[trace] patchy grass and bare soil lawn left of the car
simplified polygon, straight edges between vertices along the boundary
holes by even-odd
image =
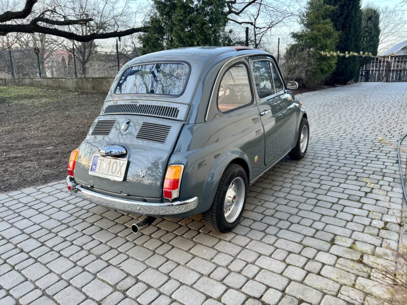
[[[0,86],[0,193],[65,179],[104,93]]]

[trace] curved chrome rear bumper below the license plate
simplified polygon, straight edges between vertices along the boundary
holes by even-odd
[[[67,176],[66,182],[68,185],[68,189],[70,188],[70,192],[78,197],[111,209],[117,209],[137,214],[159,216],[177,215],[191,211],[198,206],[197,197],[174,202],[143,202],[107,196],[84,189],[81,185],[76,185],[73,177],[71,176]]]

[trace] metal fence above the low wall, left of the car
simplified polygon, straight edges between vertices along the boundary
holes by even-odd
[[[120,67],[138,55],[136,51],[93,51],[88,58],[73,49],[36,52],[32,48],[8,48],[0,51],[0,78],[114,77]]]

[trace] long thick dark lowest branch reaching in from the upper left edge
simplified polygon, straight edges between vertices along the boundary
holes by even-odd
[[[132,27],[125,31],[114,31],[109,33],[92,33],[89,35],[78,35],[71,32],[63,31],[57,28],[44,27],[38,24],[0,24],[0,35],[7,33],[42,33],[75,40],[78,42],[89,42],[95,39],[106,39],[114,37],[123,37],[134,33],[145,33],[148,28],[145,26]]]

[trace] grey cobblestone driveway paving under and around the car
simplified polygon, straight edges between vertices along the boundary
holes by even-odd
[[[250,187],[228,234],[199,221],[135,216],[81,201],[65,184],[0,194],[0,304],[345,304],[386,297],[402,207],[394,143],[407,132],[405,83],[299,96],[311,138]],[[376,185],[370,188],[365,178]],[[372,271],[373,270],[373,271]]]

